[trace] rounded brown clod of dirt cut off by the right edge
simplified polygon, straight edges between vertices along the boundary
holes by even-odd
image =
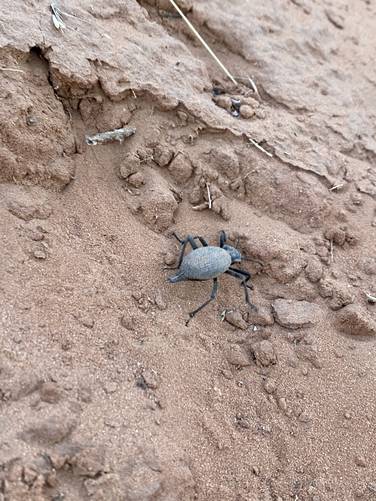
[[[376,321],[367,310],[356,304],[345,306],[337,313],[335,325],[341,332],[352,336],[376,335]]]

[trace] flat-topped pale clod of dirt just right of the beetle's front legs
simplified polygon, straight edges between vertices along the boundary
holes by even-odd
[[[287,329],[311,327],[321,316],[320,307],[307,301],[276,299],[272,304],[272,309],[276,322]]]

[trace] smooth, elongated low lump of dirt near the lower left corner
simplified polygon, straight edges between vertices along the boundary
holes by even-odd
[[[59,412],[56,415],[44,420],[41,419],[32,424],[21,433],[20,438],[26,442],[56,444],[67,438],[76,426],[76,417]]]

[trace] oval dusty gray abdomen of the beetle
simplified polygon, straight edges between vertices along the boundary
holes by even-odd
[[[187,254],[180,267],[186,280],[209,280],[231,266],[230,254],[220,247],[200,247]]]

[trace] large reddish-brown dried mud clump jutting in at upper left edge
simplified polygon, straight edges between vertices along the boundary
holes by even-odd
[[[72,127],[47,71],[29,62],[25,55],[23,72],[0,79],[0,93],[7,96],[0,111],[0,182],[60,189],[75,173]]]

